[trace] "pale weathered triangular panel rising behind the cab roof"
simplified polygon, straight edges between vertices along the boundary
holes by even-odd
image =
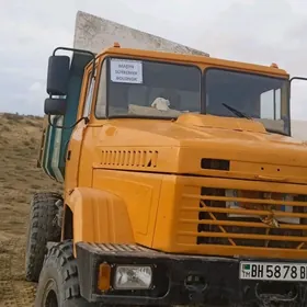
[[[123,24],[78,11],[75,25],[73,47],[100,53],[118,42],[123,48],[135,48],[178,54],[209,56],[166,38],[141,32]]]

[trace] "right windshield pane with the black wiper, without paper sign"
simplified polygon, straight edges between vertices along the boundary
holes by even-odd
[[[287,84],[286,79],[211,68],[205,72],[206,113],[251,117],[268,130],[288,134]]]

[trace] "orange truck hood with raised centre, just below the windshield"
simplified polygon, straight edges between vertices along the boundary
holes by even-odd
[[[268,133],[261,123],[246,118],[182,114],[171,123],[112,120],[101,130],[99,148],[118,151],[118,144],[135,155],[156,155],[159,172],[307,183],[307,144]],[[226,160],[229,168],[204,169],[204,159]]]

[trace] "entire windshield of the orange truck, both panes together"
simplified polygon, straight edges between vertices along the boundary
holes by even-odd
[[[123,58],[109,58],[107,65],[101,72],[98,118],[205,112],[260,121],[269,132],[289,134],[287,79],[208,68],[202,82],[201,69],[192,65]]]

